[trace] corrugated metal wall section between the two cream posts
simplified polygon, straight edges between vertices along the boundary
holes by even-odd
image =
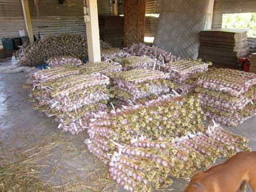
[[[58,1],[44,0],[40,1],[37,14],[33,0],[29,0],[34,35],[38,37],[40,33],[41,36],[47,37],[61,33],[85,34],[83,3],[80,0],[72,0],[71,5],[60,5]]]

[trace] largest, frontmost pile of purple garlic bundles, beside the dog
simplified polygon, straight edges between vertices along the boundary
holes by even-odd
[[[111,177],[133,191],[170,185],[172,177],[188,177],[218,157],[250,150],[248,140],[218,124],[205,129],[195,97],[159,97],[123,107],[91,123],[85,143],[110,166]]]

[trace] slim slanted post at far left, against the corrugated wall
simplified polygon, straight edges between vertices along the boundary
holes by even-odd
[[[29,42],[34,42],[33,29],[31,24],[31,16],[29,12],[28,0],[21,0],[25,24],[28,32]]]

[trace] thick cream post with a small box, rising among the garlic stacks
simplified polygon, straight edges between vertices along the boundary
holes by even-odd
[[[88,43],[89,63],[101,62],[101,45],[99,43],[99,22],[96,0],[86,0],[89,22],[85,22]]]

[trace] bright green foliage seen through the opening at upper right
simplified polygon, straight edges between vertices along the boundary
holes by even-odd
[[[246,29],[248,37],[256,37],[256,13],[223,14],[222,28]]]

